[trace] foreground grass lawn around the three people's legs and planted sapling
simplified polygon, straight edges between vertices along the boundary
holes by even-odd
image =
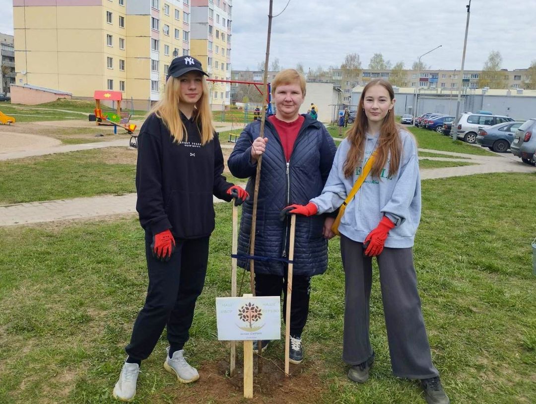
[[[422,182],[415,268],[434,364],[452,402],[536,402],[536,200],[518,197],[535,186],[536,174]],[[227,343],[216,341],[214,297],[230,289],[230,205],[216,211],[206,286],[185,347],[201,379],[180,385],[162,369],[164,336],[143,363],[134,402],[246,402],[224,368],[209,377],[228,360]],[[111,390],[147,287],[137,220],[3,228],[0,244],[0,402],[115,402]],[[290,402],[271,394],[284,396],[303,378],[311,384],[301,385],[293,402],[424,402],[414,381],[391,374],[377,278],[375,268],[376,363],[366,384],[351,383],[340,360],[344,273],[334,239],[329,270],[312,281],[306,359],[291,365],[299,376],[281,379],[271,392],[257,389],[247,402]],[[276,341],[266,356],[280,363],[283,351]]]

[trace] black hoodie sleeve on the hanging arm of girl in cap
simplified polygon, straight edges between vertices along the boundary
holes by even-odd
[[[158,134],[152,133],[157,130],[156,122],[150,121],[140,131],[136,164],[136,210],[142,227],[153,235],[172,227],[162,196],[162,144]]]

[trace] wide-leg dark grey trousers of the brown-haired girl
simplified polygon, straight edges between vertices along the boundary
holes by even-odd
[[[363,244],[341,235],[345,272],[343,360],[366,361],[373,352],[369,338],[372,258],[363,257]],[[438,375],[432,364],[411,248],[384,248],[377,256],[379,282],[391,366],[395,376],[425,379]]]

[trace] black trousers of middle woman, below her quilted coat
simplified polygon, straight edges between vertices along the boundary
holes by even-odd
[[[281,296],[283,292],[283,319],[287,308],[287,270],[284,276],[255,274],[256,296]],[[301,336],[309,314],[310,276],[292,276],[291,335]],[[286,321],[285,321],[286,323]]]

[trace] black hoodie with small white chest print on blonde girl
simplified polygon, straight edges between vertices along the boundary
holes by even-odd
[[[214,230],[212,195],[230,201],[233,184],[222,173],[224,156],[217,135],[201,144],[196,122],[181,113],[187,140],[176,143],[166,125],[150,115],[138,136],[136,210],[152,235],[171,229],[175,238],[209,236]]]

